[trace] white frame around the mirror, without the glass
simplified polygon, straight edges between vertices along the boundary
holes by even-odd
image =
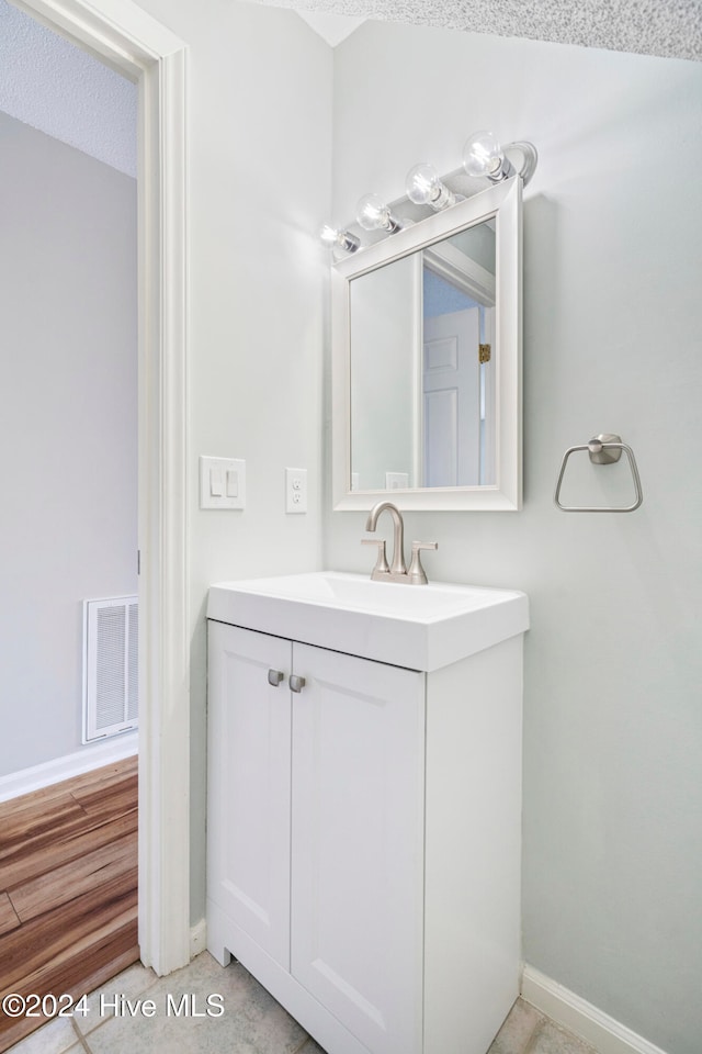
[[[393,491],[351,491],[350,282],[361,274],[496,217],[496,482]],[[497,183],[445,212],[340,260],[331,268],[333,507],[367,509],[392,500],[398,508],[516,512],[522,504],[522,180]]]

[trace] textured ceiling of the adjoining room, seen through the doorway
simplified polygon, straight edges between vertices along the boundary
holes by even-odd
[[[0,0],[0,110],[136,176],[136,86],[7,0]]]

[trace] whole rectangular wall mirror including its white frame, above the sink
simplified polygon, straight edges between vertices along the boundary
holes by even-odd
[[[521,179],[332,267],[335,508],[521,507]]]

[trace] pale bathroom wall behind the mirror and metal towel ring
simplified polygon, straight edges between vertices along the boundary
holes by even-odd
[[[440,542],[430,579],[531,597],[525,958],[669,1054],[702,1034],[701,126],[694,63],[372,23],[336,51],[336,221],[419,160],[454,169],[478,127],[540,152],[524,509],[406,522]],[[645,503],[563,514],[561,457],[599,431]],[[328,567],[370,571],[364,515],[328,514]]]

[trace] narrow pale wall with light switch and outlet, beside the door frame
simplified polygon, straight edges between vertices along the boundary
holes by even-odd
[[[331,49],[294,12],[140,0],[189,47],[192,921],[204,915],[207,588],[321,565]],[[244,458],[244,512],[201,512],[197,457]],[[285,467],[308,513],[285,513]]]

